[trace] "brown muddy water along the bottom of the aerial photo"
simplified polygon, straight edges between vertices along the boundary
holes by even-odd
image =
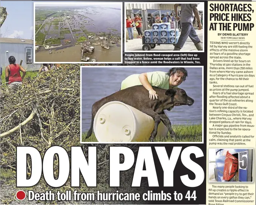
[[[91,58],[96,56],[97,62],[121,62],[121,46],[112,44],[109,49],[102,48],[102,46],[95,46]],[[39,51],[35,53],[35,62],[83,62],[81,61],[80,45],[71,46],[68,48],[52,49],[52,54],[49,50]]]

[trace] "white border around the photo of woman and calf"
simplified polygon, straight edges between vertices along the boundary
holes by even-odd
[[[82,68],[96,68],[95,66],[80,66],[80,143],[81,144],[203,144],[204,143],[204,66],[171,66],[171,67],[182,67],[182,68],[202,68],[202,142],[82,142]],[[125,66],[97,66],[99,68],[122,68]],[[128,66],[131,68],[141,68],[145,66]],[[169,66],[147,66],[149,68],[166,68]],[[205,67],[206,68],[206,67]]]

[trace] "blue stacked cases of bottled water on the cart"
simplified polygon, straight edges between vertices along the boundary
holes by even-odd
[[[175,42],[176,32],[176,42]],[[179,29],[171,28],[171,23],[153,23],[152,29],[144,32],[145,43],[177,43]]]

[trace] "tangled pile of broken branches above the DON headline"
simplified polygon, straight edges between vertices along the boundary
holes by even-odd
[[[80,65],[62,64],[17,92],[1,86],[1,165],[14,168],[16,146],[70,149],[80,141]]]

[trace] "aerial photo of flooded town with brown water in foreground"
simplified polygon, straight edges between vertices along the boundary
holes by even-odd
[[[35,3],[35,62],[121,62],[122,3]]]

